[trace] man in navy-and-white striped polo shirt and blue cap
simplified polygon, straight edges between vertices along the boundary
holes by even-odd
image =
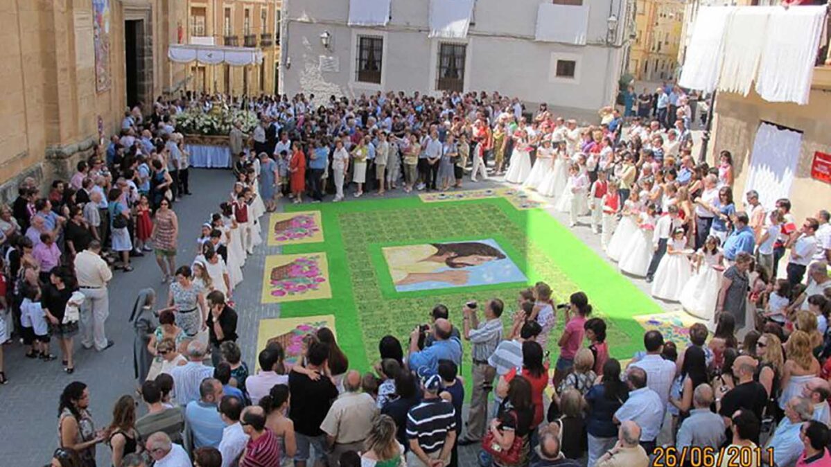
[[[456,440],[455,410],[439,397],[441,377],[430,375],[422,382],[424,399],[407,414],[409,467],[443,467],[450,462]]]

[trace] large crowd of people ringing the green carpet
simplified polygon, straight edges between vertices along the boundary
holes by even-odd
[[[694,162],[691,109],[681,90],[671,92],[681,93],[667,104],[674,121],[665,109],[667,120],[624,125],[604,109],[601,124],[589,126],[545,106],[529,114],[498,93],[379,93],[317,107],[302,95],[229,102],[260,123],[250,135],[241,125],[231,131],[237,181],[184,266],[173,205],[189,194],[189,158],[176,113],[221,101],[160,99],[150,116],[128,112],[120,135],[70,180],[56,180],[46,197],[27,180],[13,208],[0,209],[9,284],[0,337],[22,338],[29,357],[55,359],[56,337],[72,373],[79,325],[83,347],[110,348],[106,285],[112,270],[130,272],[131,258],[155,253],[170,284],[161,306],[143,290],[131,317],[145,415],[125,395],[96,430],[90,388],[72,382],[60,398],[52,465],[95,465],[100,443],[116,467],[438,467],[457,465],[458,446],[470,444],[480,445],[481,465],[499,466],[572,467],[584,458],[590,467],[646,466],[667,446],[690,445],[770,445],[774,456],[788,453],[777,465],[831,462],[829,214],[796,229],[789,200],[768,213],[755,192],[745,194],[746,212],[736,209],[730,153],[717,167]],[[281,196],[340,201],[352,184],[356,197],[460,188],[469,169],[472,180],[504,174],[552,198],[572,227],[588,218],[623,273],[646,277],[653,295],[680,301],[709,326],[691,327],[685,348],[647,332],[645,351],[622,365],[583,292],[558,307],[552,288],[537,283],[519,292],[509,319],[495,298],[466,303],[461,323],[436,306],[434,321],[405,345],[382,338],[369,373],[349,366],[327,328],[304,340],[293,365],[274,341],[258,354],[260,371],[249,371],[234,287],[262,242],[259,217]],[[788,250],[787,277],[777,278]],[[552,335],[556,361],[546,351]],[[468,420],[463,365],[472,375]],[[751,465],[770,463],[753,452]]]

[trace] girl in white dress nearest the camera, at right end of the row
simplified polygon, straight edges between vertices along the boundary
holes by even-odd
[[[724,269],[719,239],[712,235],[707,237],[704,246],[696,252],[693,260],[695,274],[681,288],[678,301],[686,312],[711,322]]]

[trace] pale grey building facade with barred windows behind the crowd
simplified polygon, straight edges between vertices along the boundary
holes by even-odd
[[[376,0],[284,0],[280,92],[499,91],[529,110],[546,102],[589,120],[612,105],[628,60],[632,0],[554,0],[583,8],[585,24],[568,41],[538,40],[540,5],[552,4],[540,0],[475,0],[464,37],[430,37],[431,2],[452,1],[391,0],[386,25],[357,27],[349,26],[350,3]],[[574,17],[557,12],[544,30],[575,29]]]

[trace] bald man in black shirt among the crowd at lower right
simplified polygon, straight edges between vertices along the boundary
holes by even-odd
[[[715,406],[719,415],[724,419],[725,425],[730,426],[730,420],[737,410],[750,410],[756,415],[756,420],[762,420],[762,412],[768,403],[768,391],[759,381],[754,381],[753,374],[756,370],[756,361],[751,356],[739,356],[733,361],[733,376],[738,380],[736,386],[727,391],[724,397],[715,398]],[[727,439],[733,438],[730,429],[726,433]],[[755,440],[759,444],[758,434]]]

